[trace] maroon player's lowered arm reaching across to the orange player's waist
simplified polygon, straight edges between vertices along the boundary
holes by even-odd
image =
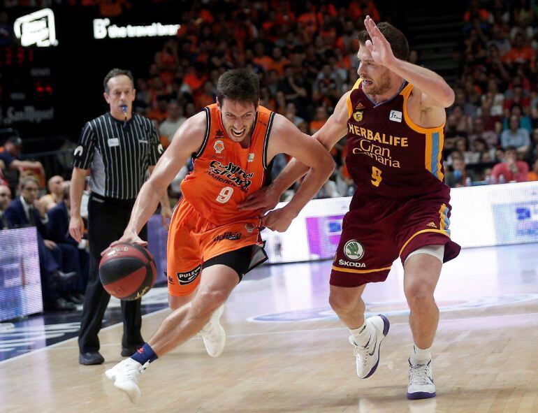
[[[345,93],[338,101],[333,115],[330,115],[327,122],[314,133],[314,138],[318,140],[327,151],[330,151],[333,146],[347,133],[347,119],[349,119],[348,101],[349,94]],[[299,131],[297,131],[298,133]],[[287,152],[284,152],[287,153]],[[292,155],[293,156],[293,155]],[[266,208],[270,210],[275,208],[280,196],[291,187],[293,182],[296,182],[300,177],[308,172],[308,166],[300,159],[293,157],[286,165],[284,170],[275,178],[275,181],[269,187],[261,189],[256,194],[249,196],[247,201],[241,205],[241,209],[256,210]],[[315,194],[315,192],[314,192]],[[312,196],[314,196],[312,194]]]

